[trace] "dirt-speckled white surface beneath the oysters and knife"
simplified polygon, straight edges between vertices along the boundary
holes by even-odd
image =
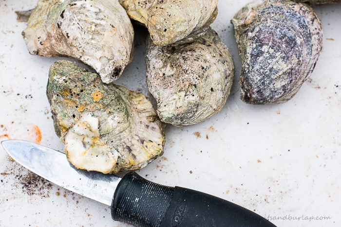
[[[7,134],[11,139],[35,141],[37,125],[40,143],[61,150],[45,95],[48,69],[57,58],[28,53],[21,37],[26,23],[17,22],[14,11],[31,9],[36,0],[22,2],[0,1],[1,140]],[[212,25],[236,66],[224,109],[197,125],[168,125],[164,156],[137,173],[156,183],[232,201],[278,227],[341,226],[341,4],[315,8],[324,29],[323,51],[299,93],[285,104],[256,106],[239,99],[241,62],[230,24],[247,2],[220,0]],[[136,34],[133,63],[117,84],[150,96],[144,37]],[[108,206],[28,173],[2,147],[0,173],[1,227],[129,226],[114,222]]]

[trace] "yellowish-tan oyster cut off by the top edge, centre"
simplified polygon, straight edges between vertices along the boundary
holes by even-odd
[[[218,0],[119,1],[129,17],[147,26],[152,41],[158,46],[192,42],[205,34],[218,14]]]

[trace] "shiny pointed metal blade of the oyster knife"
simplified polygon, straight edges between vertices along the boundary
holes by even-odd
[[[72,192],[111,206],[120,177],[78,170],[64,153],[24,140],[1,142],[7,153],[30,171]]]

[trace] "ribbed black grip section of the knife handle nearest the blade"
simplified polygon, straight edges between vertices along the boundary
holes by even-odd
[[[130,172],[122,178],[114,193],[112,217],[115,221],[137,227],[159,226],[173,192],[172,187],[153,183]]]

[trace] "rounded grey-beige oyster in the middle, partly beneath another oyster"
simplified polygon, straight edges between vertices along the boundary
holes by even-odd
[[[227,101],[233,60],[212,30],[195,42],[159,47],[147,41],[147,85],[162,122],[195,124],[219,112]]]

